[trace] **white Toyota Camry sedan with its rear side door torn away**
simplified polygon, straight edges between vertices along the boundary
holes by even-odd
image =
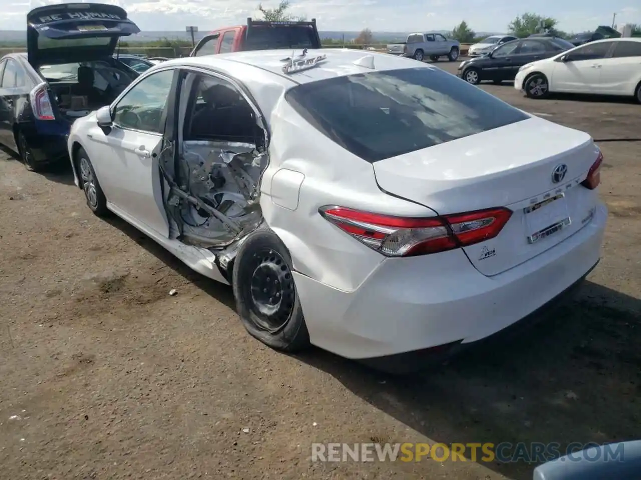
[[[588,134],[374,52],[166,61],[69,153],[90,209],[231,284],[251,335],[394,371],[529,323],[606,225]]]

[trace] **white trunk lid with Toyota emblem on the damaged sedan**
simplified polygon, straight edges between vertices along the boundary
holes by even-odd
[[[463,248],[481,273],[492,276],[553,247],[592,219],[597,195],[580,183],[598,156],[587,133],[533,117],[373,166],[381,189],[438,214],[511,209],[497,237]],[[564,175],[553,178],[563,165]],[[563,221],[547,236],[533,236]]]

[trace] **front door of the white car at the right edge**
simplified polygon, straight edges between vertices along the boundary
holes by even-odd
[[[553,92],[599,93],[601,68],[614,42],[582,45],[558,59],[552,72]]]

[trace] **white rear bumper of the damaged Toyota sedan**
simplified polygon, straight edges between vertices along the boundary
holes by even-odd
[[[353,292],[295,273],[313,344],[353,359],[388,357],[484,339],[527,318],[599,261],[607,210],[562,243],[485,276],[461,250],[386,259]]]

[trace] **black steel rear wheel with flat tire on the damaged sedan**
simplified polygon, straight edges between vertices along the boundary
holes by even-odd
[[[274,232],[259,230],[242,243],[231,284],[238,315],[250,335],[281,351],[309,346],[292,257]]]

